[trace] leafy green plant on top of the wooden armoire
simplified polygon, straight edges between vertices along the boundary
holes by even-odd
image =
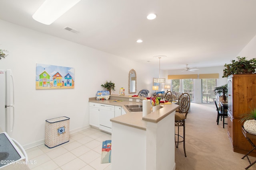
[[[256,69],[256,58],[246,60],[246,57],[236,57],[237,61],[231,60],[231,64],[225,64],[223,78],[232,74],[252,74]]]

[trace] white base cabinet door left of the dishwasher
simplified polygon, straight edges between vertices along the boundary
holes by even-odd
[[[89,124],[95,127],[99,127],[100,104],[89,102],[89,106]]]

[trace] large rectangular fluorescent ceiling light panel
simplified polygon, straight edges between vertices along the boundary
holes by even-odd
[[[32,16],[34,20],[50,25],[80,0],[45,0]]]

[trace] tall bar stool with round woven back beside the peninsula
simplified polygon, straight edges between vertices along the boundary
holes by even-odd
[[[176,148],[178,148],[179,143],[183,142],[184,154],[185,157],[187,157],[185,149],[185,120],[190,109],[190,95],[188,93],[182,93],[178,98],[177,104],[180,105],[180,107],[178,108],[178,111],[176,111],[175,113],[175,126],[178,127],[178,134],[175,133],[175,136],[177,137],[177,140],[175,137],[175,145]],[[183,126],[183,136],[180,135],[180,126]],[[180,138],[182,141],[180,141]]]

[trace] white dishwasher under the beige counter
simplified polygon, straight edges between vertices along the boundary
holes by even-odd
[[[112,133],[112,122],[110,119],[115,117],[115,106],[100,104],[99,128],[103,131]]]

